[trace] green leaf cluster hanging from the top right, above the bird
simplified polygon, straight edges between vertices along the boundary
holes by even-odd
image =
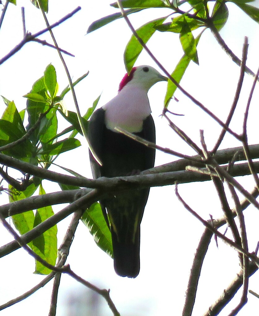
[[[242,9],[249,17],[256,22],[259,22],[259,9],[251,6],[247,3],[253,2],[254,0],[229,0],[235,3],[240,9]],[[183,48],[185,55],[179,60],[175,70],[172,72],[173,77],[179,83],[182,79],[186,68],[192,60],[198,64],[198,52],[197,52],[197,40],[195,40],[192,32],[202,27],[203,31],[207,28],[215,28],[220,31],[228,20],[228,8],[227,2],[218,0],[212,1],[214,6],[211,10],[211,5],[208,5],[207,1],[204,0],[181,0],[181,1],[169,1],[169,0],[122,0],[121,4],[125,10],[126,15],[139,12],[140,10],[157,8],[156,11],[159,15],[159,8],[168,9],[169,14],[165,18],[157,18],[154,21],[147,22],[146,24],[139,27],[136,32],[139,38],[144,42],[151,38],[156,30],[160,32],[172,32],[179,33],[180,44]],[[182,5],[185,5],[182,8]],[[186,7],[189,4],[189,8]],[[114,8],[119,8],[118,3],[114,2],[111,4]],[[163,10],[163,14],[164,14]],[[211,12],[210,12],[211,11]],[[108,15],[97,21],[94,21],[88,28],[87,33],[92,32],[118,18],[121,18],[121,12],[116,12],[112,15]],[[167,19],[168,18],[168,19]],[[169,20],[171,21],[165,21]],[[165,23],[164,23],[165,21]],[[202,31],[202,33],[203,33]],[[201,33],[201,34],[202,34]],[[197,37],[200,38],[201,34]],[[124,52],[124,63],[126,70],[129,72],[134,66],[137,58],[143,47],[139,43],[138,39],[132,35],[128,42]],[[167,94],[165,96],[165,106],[168,106],[168,102],[172,98],[172,93],[175,92],[176,86],[173,82],[168,80]]]

